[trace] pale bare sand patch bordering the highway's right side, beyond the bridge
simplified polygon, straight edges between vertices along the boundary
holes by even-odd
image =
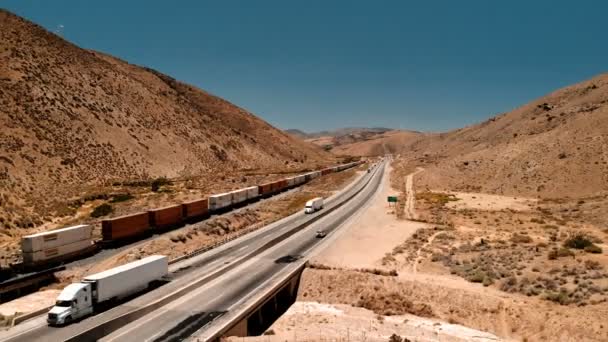
[[[385,168],[382,188],[372,204],[354,217],[348,223],[347,231],[313,257],[312,262],[333,267],[382,267],[381,259],[387,251],[425,226],[424,223],[395,217],[394,208],[387,202],[388,196],[399,193],[390,186],[391,170],[390,166]]]

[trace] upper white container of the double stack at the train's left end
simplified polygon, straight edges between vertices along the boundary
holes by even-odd
[[[21,238],[21,250],[33,253],[45,249],[55,248],[78,241],[91,241],[93,227],[82,224],[73,227],[51,230],[48,232],[27,235]]]

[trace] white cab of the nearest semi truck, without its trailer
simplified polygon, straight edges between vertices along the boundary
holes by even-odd
[[[61,291],[47,315],[51,325],[63,325],[93,313],[90,283],[74,283]]]

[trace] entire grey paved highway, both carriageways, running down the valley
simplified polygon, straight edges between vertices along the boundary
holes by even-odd
[[[320,226],[335,225],[336,217],[339,217],[340,213],[347,212],[349,208],[352,210],[357,203],[360,204],[366,195],[375,191],[381,174],[382,172],[365,174],[328,199],[325,209],[320,212],[313,215],[299,212],[197,257],[171,265],[173,281],[122,305],[61,328],[48,327],[45,317],[39,317],[0,333],[0,340],[67,340],[104,322],[118,321],[117,317],[149,307],[150,303],[198,282],[203,286],[126,325],[107,336],[107,339],[163,341],[173,340],[171,336],[187,336],[212,322],[223,312],[229,311],[230,303],[237,303],[245,298],[246,294],[254,293],[259,284],[288,265],[276,263],[276,259],[287,254],[305,255],[307,250],[317,243],[314,231]],[[327,214],[330,211],[331,213]],[[316,222],[310,224],[313,221]],[[292,237],[281,241],[283,237],[288,236]],[[267,251],[256,253],[264,249]],[[247,261],[243,261],[243,258]],[[184,330],[183,326],[189,328]],[[111,332],[112,329],[106,331],[108,334]]]

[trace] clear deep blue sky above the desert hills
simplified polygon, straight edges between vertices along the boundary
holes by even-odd
[[[441,131],[607,71],[608,1],[28,1],[0,7],[280,128]]]

